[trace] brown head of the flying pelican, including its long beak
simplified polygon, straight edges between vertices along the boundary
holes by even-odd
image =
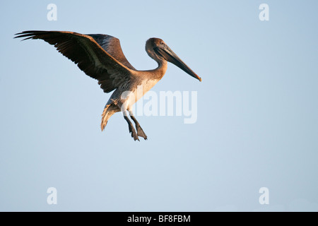
[[[170,47],[163,42],[163,40],[160,40],[160,38],[157,37],[151,37],[146,42],[146,52],[148,53],[149,57],[154,59],[155,61],[169,61],[172,64],[175,64],[175,66],[179,67],[179,69],[182,69],[183,71],[187,72],[190,76],[198,79],[201,82],[201,78],[192,71],[187,64],[184,64],[184,62],[179,59],[177,54],[175,54]]]

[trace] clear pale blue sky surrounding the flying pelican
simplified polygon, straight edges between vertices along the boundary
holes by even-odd
[[[57,5],[57,21],[47,5]],[[269,4],[269,21],[259,5]],[[317,1],[1,1],[0,210],[318,210]],[[198,118],[121,114],[100,131],[104,94],[23,30],[102,33],[136,69],[160,37],[202,82],[169,64],[153,91],[196,91]],[[57,205],[48,205],[49,187]],[[269,205],[259,189],[269,188]]]

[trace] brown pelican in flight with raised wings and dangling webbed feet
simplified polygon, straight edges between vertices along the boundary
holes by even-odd
[[[163,40],[155,37],[147,40],[146,52],[149,57],[158,63],[158,67],[153,70],[138,71],[127,61],[119,40],[110,35],[83,35],[68,31],[40,30],[28,30],[16,35],[16,37],[25,37],[23,40],[41,39],[53,44],[61,54],[77,64],[78,68],[84,71],[86,75],[97,79],[100,88],[105,93],[114,90],[102,112],[100,127],[102,130],[105,129],[108,119],[114,113],[122,112],[129,125],[129,133],[135,141],[139,141],[139,136],[146,140],[147,136],[132,114],[131,107],[163,78],[167,70],[167,61],[201,81],[201,78],[184,64]],[[142,95],[137,93],[140,87]],[[127,93],[126,91],[134,95],[123,97],[123,94]],[[136,130],[129,120],[127,112],[134,121]]]

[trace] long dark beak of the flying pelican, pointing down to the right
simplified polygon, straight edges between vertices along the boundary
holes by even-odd
[[[184,64],[184,61],[179,59],[177,54],[175,54],[167,45],[165,45],[165,47],[155,47],[155,52],[160,54],[166,61],[175,64],[175,66],[179,67],[179,69],[187,72],[190,76],[198,79],[200,82],[202,81],[202,79],[196,73],[194,73],[194,71],[192,71],[187,64]]]

